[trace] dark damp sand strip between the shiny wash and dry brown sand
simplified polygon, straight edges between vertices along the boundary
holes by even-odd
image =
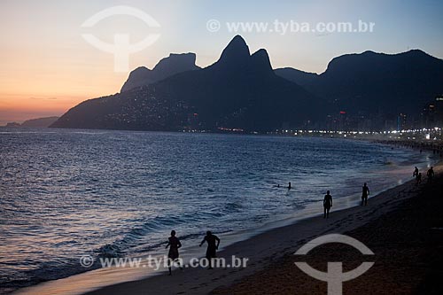
[[[440,173],[442,170],[441,164],[436,165],[436,173]],[[329,220],[323,220],[323,216],[319,214],[290,225],[269,229],[257,236],[229,245],[219,252],[219,257],[229,258],[231,255],[236,255],[237,257],[248,258],[247,268],[219,268],[213,270],[186,268],[183,272],[173,271],[173,276],[159,274],[159,276],[150,276],[138,281],[105,286],[96,291],[86,292],[86,294],[143,294],[147,290],[153,293],[191,292],[193,294],[206,294],[217,290],[217,288],[226,288],[226,286],[239,280],[241,282],[245,277],[254,277],[254,274],[271,267],[276,261],[280,261],[285,256],[297,251],[299,246],[314,237],[328,233],[345,233],[361,228],[370,221],[377,221],[386,213],[394,211],[397,206],[400,206],[408,198],[416,196],[418,191],[415,182],[409,181],[369,198],[369,205],[366,207],[354,206],[331,211]],[[44,283],[40,287],[44,287]],[[68,287],[66,286],[66,290],[69,289]],[[16,293],[28,293],[26,289],[20,289]],[[28,291],[31,290],[39,291],[35,287],[28,289]],[[40,291],[41,294],[57,293],[57,291],[51,291],[47,288]],[[221,290],[221,292],[223,291]]]

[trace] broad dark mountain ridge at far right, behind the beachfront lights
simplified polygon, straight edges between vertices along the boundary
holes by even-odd
[[[419,113],[443,93],[443,60],[422,50],[399,54],[365,51],[333,58],[323,74],[277,69],[276,74],[347,113]]]

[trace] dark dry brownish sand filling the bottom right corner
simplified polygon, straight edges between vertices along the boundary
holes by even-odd
[[[375,253],[372,268],[360,277],[343,283],[344,294],[441,294],[443,284],[443,174],[419,188],[404,191],[403,199],[390,213],[344,234],[354,237]],[[400,194],[400,192],[399,192]],[[400,198],[400,195],[398,196]],[[288,253],[253,276],[222,286],[211,294],[325,294],[327,283],[307,276],[294,262],[307,261],[327,271],[326,261],[342,261],[344,271],[357,268],[363,258],[349,246],[330,244],[303,258]],[[254,291],[251,291],[251,286]]]

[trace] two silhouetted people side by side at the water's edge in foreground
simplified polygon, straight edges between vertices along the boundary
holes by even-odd
[[[169,247],[169,252],[167,253],[167,268],[169,269],[169,276],[172,275],[172,263],[176,262],[178,264],[178,267],[183,270],[183,266],[180,265],[179,254],[178,249],[182,247],[182,243],[180,243],[180,240],[178,237],[175,236],[175,230],[171,231],[171,237],[167,239],[167,247]],[[207,243],[207,249],[206,249],[206,259],[209,261],[209,269],[213,268],[213,260],[216,258],[216,252],[220,245],[220,238],[213,235],[211,231],[206,231],[206,236],[203,238],[203,240],[200,243],[200,247]]]

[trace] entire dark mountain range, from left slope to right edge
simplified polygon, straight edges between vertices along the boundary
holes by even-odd
[[[370,128],[385,128],[399,113],[417,118],[442,93],[443,60],[422,50],[346,54],[323,74],[274,71],[266,50],[251,54],[237,35],[211,66],[195,66],[192,53],[171,54],[133,71],[119,94],[82,102],[51,127],[266,132],[329,126],[346,111],[354,126],[368,118]]]

